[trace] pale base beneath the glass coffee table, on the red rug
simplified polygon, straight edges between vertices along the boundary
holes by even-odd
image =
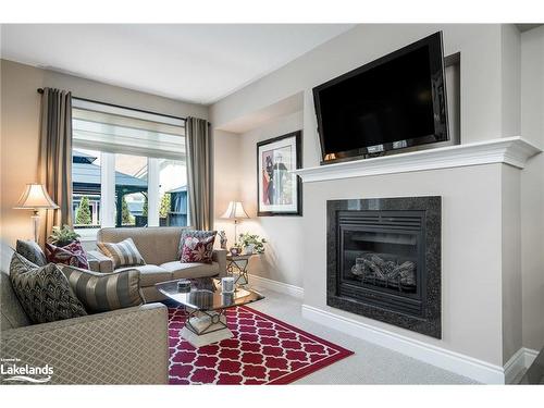
[[[180,335],[194,347],[232,338],[233,332],[226,325],[224,309],[218,311],[188,311],[185,326]]]

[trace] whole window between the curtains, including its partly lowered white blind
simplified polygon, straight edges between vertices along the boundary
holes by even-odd
[[[72,115],[76,228],[187,224],[183,120],[75,98]]]

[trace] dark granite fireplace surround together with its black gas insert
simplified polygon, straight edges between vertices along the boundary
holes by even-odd
[[[442,337],[442,198],[330,200],[326,304]]]

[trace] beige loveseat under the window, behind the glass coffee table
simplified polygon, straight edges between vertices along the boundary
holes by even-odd
[[[177,258],[180,238],[185,227],[157,226],[135,228],[101,228],[97,240],[119,243],[133,238],[136,248],[144,257],[146,264],[140,267],[119,268],[140,271],[140,287],[146,302],[165,299],[157,292],[154,284],[183,277],[223,276],[226,273],[226,250],[213,251],[213,262],[182,263]],[[89,251],[89,267],[99,272],[113,272],[113,262],[99,251]]]

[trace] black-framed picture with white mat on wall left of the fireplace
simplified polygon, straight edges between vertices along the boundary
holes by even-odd
[[[259,217],[302,215],[302,183],[292,170],[302,165],[302,132],[257,144]]]

